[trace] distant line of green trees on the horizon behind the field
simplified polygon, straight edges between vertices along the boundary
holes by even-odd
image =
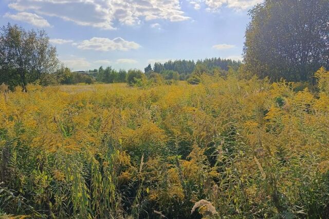
[[[193,60],[170,60],[165,63],[156,62],[153,67],[149,64],[144,68],[144,72],[131,69],[129,71],[125,71],[120,69],[119,71],[113,69],[112,67],[101,66],[99,69],[91,69],[86,72],[78,71],[74,72],[76,75],[74,78],[68,80],[64,84],[76,84],[80,82],[84,82],[86,76],[90,76],[94,79],[94,81],[102,82],[102,83],[122,83],[127,82],[129,84],[135,83],[134,78],[147,78],[153,79],[162,78],[167,81],[188,81],[190,84],[197,84],[199,79],[198,75],[201,74],[220,74],[222,76],[226,76],[231,68],[233,71],[237,71],[239,67],[242,65],[240,61],[234,61],[232,59],[225,58],[206,58],[199,59],[196,62]],[[82,81],[78,77],[83,74]],[[131,78],[131,79],[129,79]]]

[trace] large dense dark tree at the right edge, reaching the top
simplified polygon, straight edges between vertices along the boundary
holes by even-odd
[[[245,71],[272,81],[312,81],[329,68],[327,0],[266,0],[250,11]]]

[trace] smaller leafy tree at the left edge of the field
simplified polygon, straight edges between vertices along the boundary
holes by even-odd
[[[59,68],[56,48],[49,44],[46,32],[26,31],[17,25],[0,30],[0,84],[11,89],[38,81],[41,85],[56,84],[52,75]]]

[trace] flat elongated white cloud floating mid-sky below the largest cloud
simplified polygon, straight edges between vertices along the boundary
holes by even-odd
[[[72,45],[76,45],[79,49],[92,49],[97,51],[128,51],[131,49],[138,49],[140,47],[139,44],[133,41],[125,41],[121,37],[114,39],[93,37],[91,39],[86,39],[80,43],[75,43]]]

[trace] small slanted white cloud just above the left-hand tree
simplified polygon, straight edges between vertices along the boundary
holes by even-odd
[[[15,21],[26,22],[36,27],[50,27],[50,24],[47,22],[46,19],[33,13],[28,13],[28,12],[20,12],[17,14],[6,13],[5,17],[9,17]]]

